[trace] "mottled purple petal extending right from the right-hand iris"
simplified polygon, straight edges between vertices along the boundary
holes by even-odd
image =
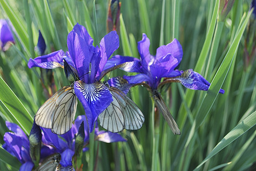
[[[182,72],[182,71],[181,71]],[[183,71],[181,76],[177,78],[171,78],[173,80],[177,80],[177,82],[181,83],[186,88],[197,89],[197,90],[205,90],[207,91],[210,87],[210,83],[203,78],[202,75],[193,71],[192,69]],[[223,89],[220,89],[219,93],[224,93]]]

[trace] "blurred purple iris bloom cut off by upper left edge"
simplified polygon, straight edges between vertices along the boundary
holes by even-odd
[[[5,48],[6,43],[13,42],[13,33],[11,32],[10,24],[6,19],[0,19],[0,45],[2,50],[7,50]]]

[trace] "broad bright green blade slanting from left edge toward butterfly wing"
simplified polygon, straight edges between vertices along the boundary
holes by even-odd
[[[33,124],[33,117],[27,112],[27,109],[18,99],[18,97],[11,91],[5,81],[0,77],[0,101],[9,110],[15,119],[15,123],[21,126],[23,131],[29,135]]]

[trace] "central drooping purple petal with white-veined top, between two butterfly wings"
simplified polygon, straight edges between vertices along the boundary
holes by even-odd
[[[74,90],[83,108],[85,108],[89,131],[91,132],[98,115],[113,101],[112,95],[109,89],[99,82],[86,84],[77,81],[74,83]]]

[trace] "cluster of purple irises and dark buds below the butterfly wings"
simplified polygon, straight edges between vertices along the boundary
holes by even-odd
[[[85,115],[78,116],[70,131],[61,136],[51,132],[51,129],[39,128],[34,123],[27,137],[18,125],[6,121],[6,127],[11,132],[5,133],[3,148],[21,162],[19,170],[53,169],[57,166],[74,170],[73,162],[76,164],[81,153],[88,150],[89,128],[84,123]],[[99,131],[98,125],[95,127],[95,140],[105,143],[126,141],[117,133]]]

